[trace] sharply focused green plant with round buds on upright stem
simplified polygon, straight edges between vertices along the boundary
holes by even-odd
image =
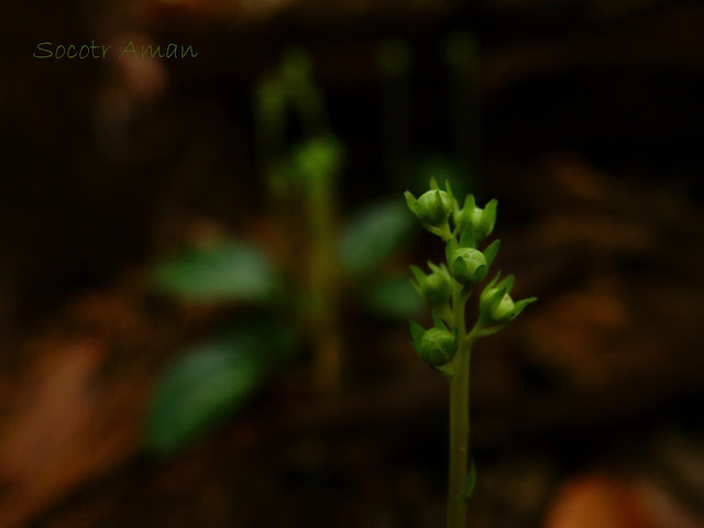
[[[479,317],[468,331],[465,308],[470,296],[486,277],[498,252],[499,241],[480,250],[492,234],[497,201],[484,209],[468,195],[460,208],[449,182],[441,190],[435,179],[418,199],[406,191],[411,212],[446,244],[447,263],[428,263],[429,274],[411,266],[414,287],[432,310],[433,327],[426,330],[410,321],[413,345],[418,356],[440,371],[450,385],[450,452],[448,472],[448,528],[466,528],[466,501],[476,481],[474,462],[468,464],[470,440],[470,365],[477,339],[502,330],[536,297],[514,301],[513,275],[501,272],[484,287],[479,299]],[[499,280],[501,279],[501,280]]]

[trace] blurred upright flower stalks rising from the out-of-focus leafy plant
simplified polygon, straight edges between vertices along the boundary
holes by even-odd
[[[272,191],[284,262],[301,264],[302,268],[290,273],[302,272],[304,294],[310,302],[297,316],[312,337],[315,384],[328,392],[339,385],[342,372],[334,226],[337,145],[328,138],[324,101],[311,80],[306,52],[297,47],[286,51],[279,72],[258,85],[256,109],[256,150]],[[308,138],[292,157],[284,154],[287,110],[296,113]],[[301,213],[307,231],[299,240],[295,234],[301,232],[296,229]]]

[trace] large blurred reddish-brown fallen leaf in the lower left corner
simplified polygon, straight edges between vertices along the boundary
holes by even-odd
[[[24,526],[72,487],[134,452],[143,395],[107,386],[95,339],[48,340],[18,388],[0,440],[0,526]]]

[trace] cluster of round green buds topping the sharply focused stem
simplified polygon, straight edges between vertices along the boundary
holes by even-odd
[[[447,264],[436,265],[429,262],[429,274],[411,266],[415,277],[411,284],[432,308],[435,322],[435,327],[429,330],[415,321],[410,322],[413,345],[421,360],[441,367],[451,362],[458,351],[460,321],[457,315],[464,317],[464,305],[459,310],[457,305],[468,301],[472,290],[488,274],[498,253],[498,240],[480,250],[482,241],[494,231],[498,202],[491,200],[484,208],[480,208],[474,196],[468,195],[463,207],[460,207],[450,184],[446,183],[446,189],[442,190],[435,178],[430,180],[430,190],[419,198],[409,191],[406,191],[405,197],[408,208],[421,224],[446,243]],[[531,297],[514,301],[510,297],[514,277],[508,276],[501,282],[499,278],[501,272],[480,296],[480,317],[471,332],[473,338],[501,330],[536,300]]]

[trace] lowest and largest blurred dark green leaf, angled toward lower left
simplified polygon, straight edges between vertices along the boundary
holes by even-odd
[[[158,454],[188,446],[222,422],[296,350],[293,336],[268,320],[193,346],[154,391],[145,443]]]

